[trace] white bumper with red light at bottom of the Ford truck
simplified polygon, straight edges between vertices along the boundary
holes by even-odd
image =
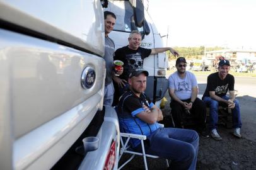
[[[86,154],[79,169],[117,169],[120,132],[117,113],[113,107],[105,107],[104,122],[96,137],[100,139],[98,149]]]

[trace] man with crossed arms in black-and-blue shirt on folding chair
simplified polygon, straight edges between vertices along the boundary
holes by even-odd
[[[121,132],[146,135],[146,152],[171,159],[171,169],[195,169],[199,137],[189,129],[163,128],[158,121],[163,119],[161,110],[144,94],[148,72],[135,69],[129,74],[129,91],[120,98],[117,107]],[[131,145],[141,149],[140,140]]]

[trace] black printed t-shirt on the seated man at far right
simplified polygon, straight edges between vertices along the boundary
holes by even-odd
[[[228,90],[234,90],[234,84],[235,78],[231,74],[228,74],[224,80],[221,80],[218,72],[212,73],[207,77],[207,86],[204,96],[210,96],[209,91],[215,91],[215,94],[219,97],[225,96]]]

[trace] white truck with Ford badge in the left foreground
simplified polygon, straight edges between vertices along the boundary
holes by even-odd
[[[117,169],[105,1],[0,1],[0,169]],[[84,137],[98,148],[75,150]]]

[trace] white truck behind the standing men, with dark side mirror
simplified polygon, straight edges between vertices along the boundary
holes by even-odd
[[[141,0],[108,1],[108,8],[105,10],[112,11],[117,16],[114,30],[109,35],[115,42],[115,49],[128,45],[128,37],[132,30],[138,30],[143,35],[141,47],[163,47],[160,34],[146,10],[147,4],[145,8],[143,2]],[[165,78],[168,68],[166,54],[150,55],[144,59],[143,68],[149,72],[145,93],[157,106],[160,106],[161,99],[168,89],[168,79]]]

